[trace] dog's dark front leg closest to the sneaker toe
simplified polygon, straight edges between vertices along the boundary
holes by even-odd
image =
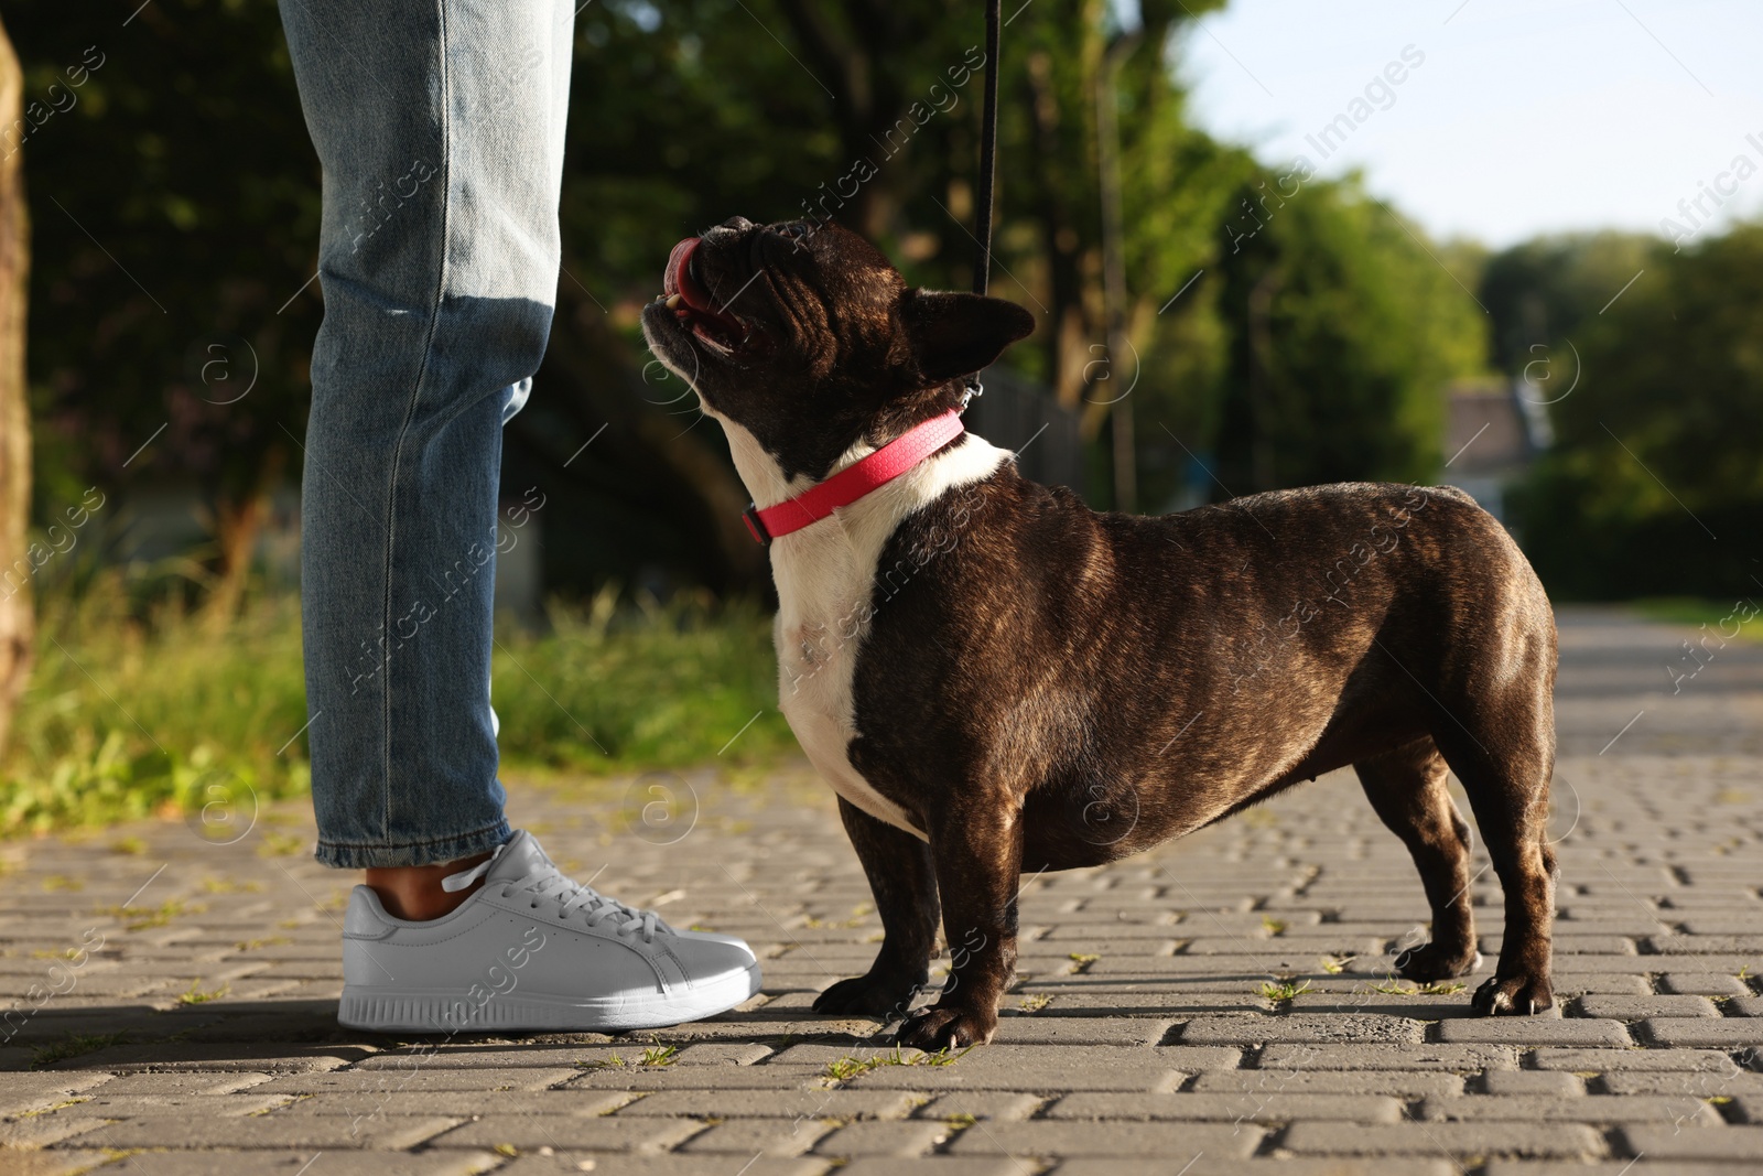
[[[844,832],[869,875],[869,892],[882,915],[882,950],[869,975],[830,986],[815,1012],[904,1017],[911,998],[931,979],[936,954],[936,871],[931,846],[903,829],[869,816],[839,797]]]

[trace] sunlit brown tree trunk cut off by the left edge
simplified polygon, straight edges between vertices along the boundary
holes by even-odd
[[[0,127],[23,118],[25,79],[0,21]],[[4,139],[0,139],[4,143]],[[35,645],[30,568],[30,406],[25,390],[25,296],[30,275],[30,220],[25,210],[23,157],[14,146],[0,159],[0,749],[12,707],[30,677]]]

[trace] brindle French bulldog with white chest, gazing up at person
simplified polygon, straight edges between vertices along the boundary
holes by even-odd
[[[675,247],[643,333],[728,434],[758,508],[963,404],[1033,330],[1021,307],[910,289],[834,226],[735,217]],[[1409,846],[1432,942],[1479,964],[1469,793],[1506,890],[1484,1014],[1551,1005],[1555,622],[1500,524],[1447,487],[1347,483],[1146,518],[1023,480],[963,434],[770,545],[779,702],[839,793],[885,931],[815,1001],[904,1014],[899,1040],[991,1038],[1023,873],[1097,866],[1352,765]]]

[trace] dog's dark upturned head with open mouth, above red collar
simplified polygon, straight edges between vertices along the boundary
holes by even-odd
[[[834,224],[733,217],[675,245],[661,287],[651,349],[785,478],[957,406],[964,376],[1035,330],[1012,301],[908,287]]]

